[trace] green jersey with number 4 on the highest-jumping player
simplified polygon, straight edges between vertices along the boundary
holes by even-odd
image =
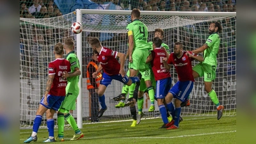
[[[127,25],[128,36],[133,35],[135,49],[150,49],[148,45],[148,28],[140,20],[135,19]]]

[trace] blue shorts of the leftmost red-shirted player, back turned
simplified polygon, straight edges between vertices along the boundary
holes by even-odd
[[[60,108],[61,102],[65,99],[65,96],[54,96],[54,95],[47,95],[47,102],[48,106],[44,104],[44,97],[40,101],[40,104],[42,104],[45,108],[48,109],[54,109],[55,111],[58,111]]]

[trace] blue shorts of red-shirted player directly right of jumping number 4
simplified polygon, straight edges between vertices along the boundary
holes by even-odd
[[[156,81],[156,99],[164,99],[172,86],[172,77]]]

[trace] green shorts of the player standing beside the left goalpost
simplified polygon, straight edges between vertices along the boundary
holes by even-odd
[[[76,93],[67,93],[65,99],[61,103],[60,109],[65,109],[65,113],[67,113],[70,110],[75,110],[77,97],[78,94]],[[64,111],[60,112],[64,113]]]

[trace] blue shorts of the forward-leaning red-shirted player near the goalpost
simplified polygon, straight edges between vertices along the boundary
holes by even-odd
[[[124,84],[127,84],[129,81],[129,77],[128,76],[124,76],[122,77],[119,74],[113,75],[113,76],[109,76],[106,73],[102,74],[102,79],[100,80],[100,84],[103,84],[104,86],[108,87],[108,84],[111,84],[111,81],[115,79],[117,81],[120,81]]]

